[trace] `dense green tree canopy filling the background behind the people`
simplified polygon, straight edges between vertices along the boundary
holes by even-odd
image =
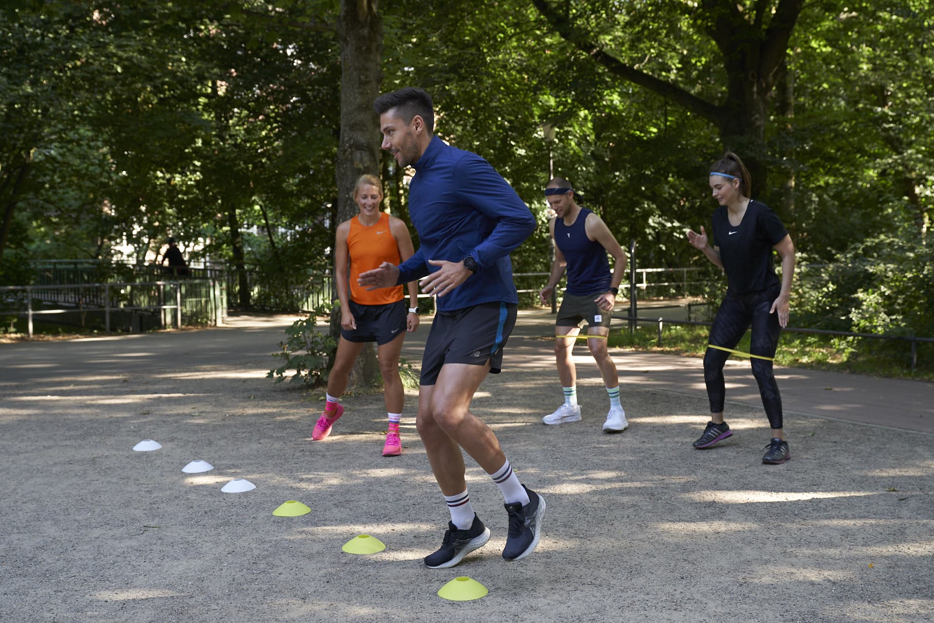
[[[341,90],[354,88],[341,83],[340,7],[7,3],[0,279],[17,282],[28,260],[117,248],[142,261],[168,235],[244,271],[326,267],[343,196]],[[378,11],[382,91],[432,92],[438,133],[487,158],[541,219],[514,254],[519,270],[549,262],[552,174],[624,246],[637,239],[642,262],[701,263],[683,234],[710,218],[707,166],[724,149],[753,164],[757,198],[808,260],[880,236],[926,248],[924,0],[400,0]],[[388,158],[377,168],[405,219],[407,173]]]

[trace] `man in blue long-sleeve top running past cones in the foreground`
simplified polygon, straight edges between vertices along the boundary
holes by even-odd
[[[398,266],[384,262],[362,273],[360,283],[388,288],[421,279],[422,291],[437,297],[422,358],[417,427],[451,521],[441,547],[425,564],[453,567],[489,540],[470,503],[460,448],[502,492],[509,517],[502,558],[523,559],[541,537],[545,500],[519,483],[496,435],[469,407],[488,372],[500,372],[518,304],[509,253],[534,231],[535,219],[487,161],[434,135],[427,92],[385,93],[374,107],[382,148],[399,166],[416,169],[409,216],[420,248]]]

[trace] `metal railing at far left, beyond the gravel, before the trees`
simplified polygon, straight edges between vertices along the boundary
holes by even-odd
[[[125,319],[127,312],[131,312],[131,331],[141,322],[134,316],[138,312],[158,314],[163,327],[181,328],[186,319],[191,324],[221,326],[227,314],[224,290],[226,285],[215,279],[5,286],[0,287],[0,316],[25,316],[30,339],[35,317],[76,312],[82,315],[82,326],[88,314],[102,314],[107,333],[111,320],[118,315]]]

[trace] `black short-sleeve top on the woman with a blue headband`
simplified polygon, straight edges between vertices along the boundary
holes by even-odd
[[[727,273],[728,293],[748,294],[781,285],[771,254],[788,231],[771,207],[750,200],[743,220],[734,227],[727,206],[721,205],[714,211],[711,233]]]

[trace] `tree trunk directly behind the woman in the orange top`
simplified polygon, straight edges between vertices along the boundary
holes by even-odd
[[[341,0],[337,36],[341,45],[341,135],[337,148],[337,222],[353,218],[353,188],[364,173],[379,176],[379,120],[373,101],[382,81],[383,19],[377,0]],[[334,275],[335,279],[347,278]],[[340,333],[340,314],[331,333]],[[331,358],[333,361],[333,357]],[[363,348],[350,382],[370,386],[380,380],[372,344]]]

